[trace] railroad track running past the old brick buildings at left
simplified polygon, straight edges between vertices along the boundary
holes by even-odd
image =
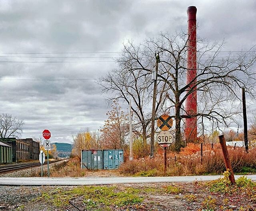
[[[62,160],[53,160],[53,161],[50,161],[49,164],[60,162],[60,161]],[[47,162],[45,162],[44,165],[47,165]],[[16,170],[24,170],[26,168],[37,167],[37,166],[41,166],[40,162],[4,165],[4,166],[0,166],[0,174],[13,172]]]

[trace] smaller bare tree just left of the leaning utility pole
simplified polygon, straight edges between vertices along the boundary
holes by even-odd
[[[132,42],[124,45],[122,55],[117,60],[119,68],[108,73],[98,83],[102,86],[104,93],[110,94],[108,98],[110,102],[120,99],[129,105],[129,99],[131,99],[131,108],[135,120],[133,132],[136,136],[141,136],[144,143],[146,143],[150,135],[149,126],[151,121],[151,113],[148,110],[148,105],[152,101],[151,69],[154,68],[156,61],[152,51],[152,57],[145,58],[146,71],[144,71],[140,63],[136,62],[144,57],[141,47],[143,48],[143,46],[134,47]],[[134,58],[136,58],[136,61],[134,61]],[[162,94],[159,94],[158,98],[161,97]],[[156,110],[159,109],[160,102],[161,100],[158,100]]]

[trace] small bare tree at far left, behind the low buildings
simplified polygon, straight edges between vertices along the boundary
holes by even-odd
[[[24,122],[11,114],[0,114],[0,140],[21,135]]]

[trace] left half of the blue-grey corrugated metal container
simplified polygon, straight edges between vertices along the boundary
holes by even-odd
[[[102,150],[82,150],[81,168],[97,170],[103,168]]]

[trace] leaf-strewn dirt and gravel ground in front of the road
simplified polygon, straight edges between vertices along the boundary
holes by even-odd
[[[142,201],[121,207],[110,206],[108,209],[104,208],[103,203],[101,207],[86,209],[83,203],[84,196],[75,196],[69,200],[69,203],[66,202],[66,205],[62,204],[64,200],[62,197],[65,195],[60,195],[57,199],[53,197],[53,194],[56,191],[60,192],[60,189],[72,190],[78,186],[0,186],[0,211],[256,211],[256,204],[248,198],[212,194],[197,182],[120,184],[104,187],[113,186],[116,192],[132,188]],[[177,187],[179,191],[176,189],[164,191],[166,187]],[[49,194],[44,195],[44,193]]]

